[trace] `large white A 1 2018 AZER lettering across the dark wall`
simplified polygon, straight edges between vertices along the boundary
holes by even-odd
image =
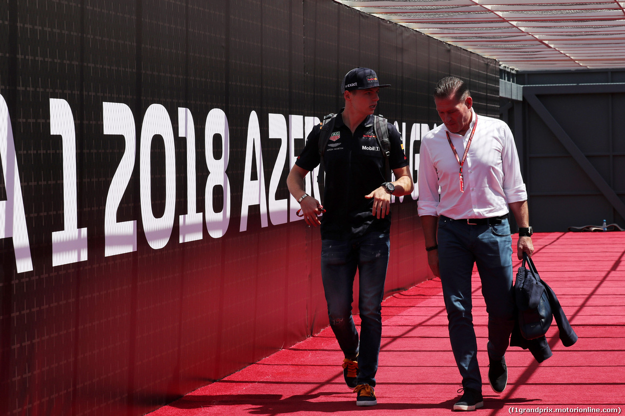
[[[50,134],[60,136],[63,144],[63,230],[52,232],[53,266],[81,262],[88,259],[87,227],[78,228],[78,179],[81,172],[77,169],[76,127],[69,103],[63,99],[49,99]],[[246,158],[242,177],[241,224],[239,231],[247,230],[249,207],[259,206],[261,227],[285,224],[300,220],[296,216],[299,209],[297,201],[289,195],[277,199],[277,194],[284,176],[285,168],[294,166],[301,149],[301,141],[312,129],[319,126],[317,117],[304,117],[282,114],[268,115],[267,139],[280,141],[274,161],[269,192],[267,194],[262,157],[261,128],[256,111],[252,111],[247,124]],[[399,123],[395,123],[399,127]],[[413,124],[409,142],[406,146],[406,124],[402,123],[402,142],[406,154],[410,156],[411,170],[417,171],[417,143],[429,131],[427,124]],[[133,111],[123,103],[103,102],[103,133],[110,140],[124,139],[124,151],[116,167],[106,196],[104,209],[104,255],[106,257],[135,252],[137,250],[137,220],[128,218],[128,206],[136,204],[133,199],[139,197],[141,220],[146,241],[153,249],[161,249],[168,244],[176,220],[176,142],[173,124],[167,109],[160,104],[152,104],[144,114],[141,126],[141,145],[139,157],[136,157],[137,132]],[[178,108],[178,136],[186,138],[186,214],[179,220],[179,243],[202,239],[202,212],[197,212],[197,169],[195,123],[191,111]],[[163,139],[164,144],[164,213],[156,217],[153,212],[152,194],[152,144],[153,140]],[[108,146],[117,149],[118,146]],[[231,212],[231,184],[226,174],[230,146],[227,116],[221,109],[211,109],[206,116],[204,137],[206,167],[208,175],[204,191],[204,224],[212,238],[220,238],[229,227]],[[219,149],[221,147],[221,149]],[[368,146],[373,149],[375,146]],[[409,148],[409,149],[408,149]],[[180,149],[179,149],[180,150]],[[220,156],[221,153],[221,156]],[[288,155],[288,156],[287,156]],[[32,270],[32,258],[29,236],[26,228],[26,214],[22,199],[21,182],[17,171],[17,155],[9,117],[8,107],[0,95],[0,156],[2,174],[6,184],[7,201],[0,201],[0,238],[12,238],[18,273]],[[217,159],[219,157],[219,159]],[[289,159],[287,164],[286,159]],[[128,202],[122,200],[133,176],[134,165],[139,164],[138,196],[127,195]],[[287,166],[285,166],[287,165]],[[159,169],[163,171],[163,169]],[[256,172],[256,174],[254,174]],[[309,195],[321,200],[317,175],[319,167],[304,177],[304,189]],[[254,177],[256,176],[256,177]],[[417,182],[415,175],[414,182]],[[411,194],[418,196],[417,187]],[[267,204],[269,205],[267,207]],[[125,208],[122,210],[122,208]],[[182,207],[179,207],[185,212]],[[132,212],[132,211],[131,211]],[[123,218],[118,222],[118,217]],[[124,218],[125,217],[125,218]],[[61,227],[61,225],[59,225]]]

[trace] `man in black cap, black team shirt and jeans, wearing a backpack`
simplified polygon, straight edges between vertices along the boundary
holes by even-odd
[[[357,393],[356,404],[377,404],[377,357],[380,350],[381,302],[389,257],[391,195],[412,192],[401,136],[386,123],[387,156],[377,137],[376,117],[381,87],[376,72],[358,67],[347,72],[341,93],[345,107],[333,123],[329,140],[319,146],[322,126],[308,135],[306,146],[289,172],[287,186],[299,201],[306,224],[321,225],[321,278],[330,326],[344,354],[346,384]],[[329,127],[327,126],[326,129]],[[321,161],[325,173],[324,204],[306,194],[304,177]],[[387,177],[389,166],[396,181]],[[324,212],[319,219],[319,215]],[[352,319],[353,285],[359,272],[361,333]]]

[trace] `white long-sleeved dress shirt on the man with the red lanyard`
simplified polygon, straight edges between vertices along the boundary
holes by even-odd
[[[476,122],[464,136],[449,132],[462,161]],[[460,191],[460,164],[447,141],[447,127],[435,127],[423,137],[419,155],[419,215],[445,215],[452,219],[488,218],[507,214],[507,204],[526,201],[519,155],[507,124],[477,116],[477,127],[462,166],[464,193]],[[439,187],[441,190],[439,198]]]

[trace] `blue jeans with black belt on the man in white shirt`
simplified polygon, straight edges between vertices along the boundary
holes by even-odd
[[[510,234],[507,219],[501,224],[469,225],[466,220],[439,217],[437,242],[442,294],[449,320],[451,349],[465,389],[482,390],[471,314],[474,263],[482,282],[488,314],[489,357],[503,357],[514,327]]]

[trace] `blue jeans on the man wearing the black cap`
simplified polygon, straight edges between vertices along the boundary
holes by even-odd
[[[330,327],[345,358],[358,357],[357,384],[376,385],[382,339],[382,297],[389,260],[389,234],[371,232],[350,240],[321,240],[321,278]],[[356,269],[359,274],[360,342],[352,319]]]

